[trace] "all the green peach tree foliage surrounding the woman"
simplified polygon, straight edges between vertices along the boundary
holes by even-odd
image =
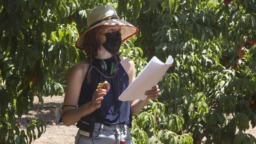
[[[256,100],[256,52],[248,42],[256,41],[255,0],[1,0],[1,143],[31,143],[46,130],[35,118],[19,131],[15,115],[33,108],[34,95],[43,106],[44,96],[65,93],[69,68],[87,57],[74,43],[88,11],[102,4],[140,30],[120,49],[136,75],[153,56],[175,59],[158,83],[159,99],[133,117],[133,143],[200,143],[204,136],[205,143],[256,142],[244,133],[256,122],[249,103]]]

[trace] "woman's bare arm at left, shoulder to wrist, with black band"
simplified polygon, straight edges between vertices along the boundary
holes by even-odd
[[[85,63],[78,63],[70,68],[70,72],[67,77],[66,92],[63,105],[77,106],[81,85],[85,77],[88,65]],[[66,126],[70,126],[80,120],[81,117],[92,113],[94,110],[90,109],[91,102],[88,102],[79,108],[72,106],[64,106],[62,114],[66,113],[62,117],[62,122]]]

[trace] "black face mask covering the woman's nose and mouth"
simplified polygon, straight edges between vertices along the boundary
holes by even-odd
[[[100,33],[102,34],[102,33]],[[104,35],[104,34],[102,34]],[[105,33],[106,42],[102,44],[102,46],[110,53],[114,54],[118,49],[121,47],[122,38],[121,33],[116,32],[114,35],[111,35],[111,33]]]

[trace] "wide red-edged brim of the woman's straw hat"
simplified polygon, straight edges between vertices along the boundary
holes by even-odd
[[[106,20],[106,21],[103,21],[103,22],[100,22],[99,24],[96,24],[94,25],[93,27],[91,27],[90,29],[88,29],[87,31],[85,31],[76,41],[76,44],[75,44],[75,47],[77,49],[83,49],[81,47],[81,45],[83,44],[83,37],[85,36],[85,34],[96,28],[96,27],[99,27],[99,26],[102,26],[102,25],[109,25],[109,26],[125,26],[126,29],[125,29],[125,33],[122,34],[121,38],[122,38],[122,42],[124,40],[127,40],[128,38],[130,38],[131,36],[135,35],[136,33],[138,33],[138,28],[136,28],[135,26],[133,26],[132,24],[130,24],[129,22],[126,22],[126,21],[123,21],[123,20],[120,20],[120,19],[110,19],[110,20]]]

